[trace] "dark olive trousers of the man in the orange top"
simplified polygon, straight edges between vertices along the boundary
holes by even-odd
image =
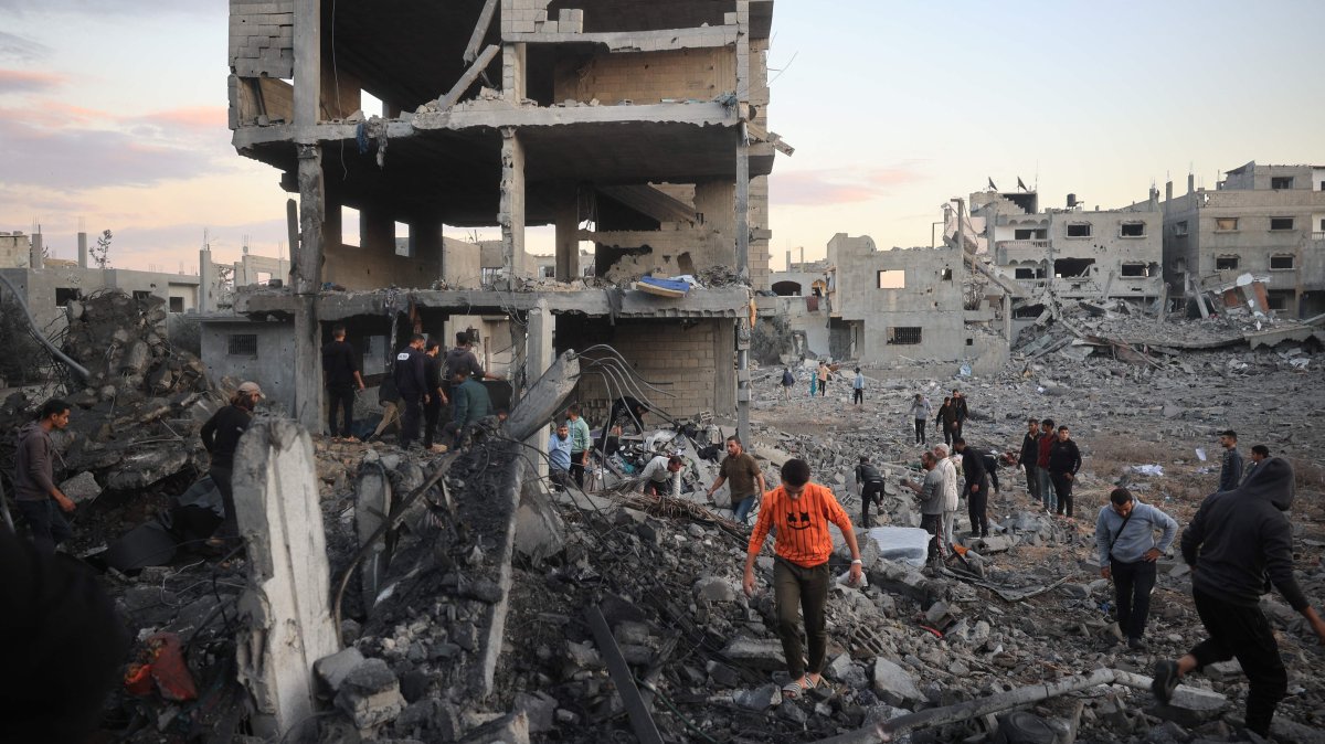
[[[778,605],[778,635],[782,653],[787,657],[791,679],[806,675],[804,649],[800,646],[799,609],[806,616],[806,639],[810,646],[810,671],[824,669],[828,651],[828,628],[824,624],[824,605],[828,601],[828,561],[806,568],[786,559],[772,564],[772,594]]]

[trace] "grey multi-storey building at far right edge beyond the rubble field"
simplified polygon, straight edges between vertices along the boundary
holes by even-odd
[[[1165,188],[1163,271],[1174,291],[1219,289],[1252,274],[1269,310],[1325,312],[1325,165],[1257,165],[1224,173],[1212,191]],[[1208,286],[1207,286],[1208,285]]]

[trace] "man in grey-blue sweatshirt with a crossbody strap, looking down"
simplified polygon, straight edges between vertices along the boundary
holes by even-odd
[[[1155,543],[1155,530],[1163,535]],[[1155,561],[1169,552],[1178,536],[1178,523],[1158,508],[1143,504],[1126,488],[1114,488],[1109,503],[1094,520],[1094,543],[1100,549],[1100,576],[1113,580],[1118,605],[1118,630],[1128,647],[1145,647],[1150,614],[1150,593],[1155,588]]]

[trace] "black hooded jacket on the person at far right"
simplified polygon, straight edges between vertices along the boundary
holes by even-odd
[[[1293,532],[1284,515],[1293,503],[1293,469],[1272,457],[1242,486],[1206,496],[1182,532],[1191,585],[1226,602],[1255,606],[1265,579],[1297,612],[1306,597],[1293,579]]]

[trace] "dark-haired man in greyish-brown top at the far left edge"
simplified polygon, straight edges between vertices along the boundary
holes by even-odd
[[[50,398],[41,405],[37,420],[19,430],[19,449],[13,463],[13,498],[28,520],[37,552],[52,555],[56,547],[73,536],[61,511],[74,510],[74,502],[56,486],[56,446],[50,433],[69,426],[72,406]],[[58,507],[58,508],[57,508]]]

